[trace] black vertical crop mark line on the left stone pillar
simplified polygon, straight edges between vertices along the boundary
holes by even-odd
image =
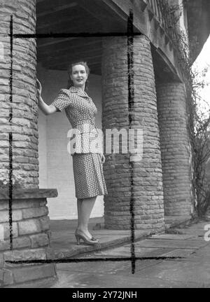
[[[10,16],[10,105],[13,104],[13,15]],[[8,183],[8,195],[9,195],[9,228],[10,228],[10,249],[13,249],[13,107],[10,106],[9,111],[9,183]]]

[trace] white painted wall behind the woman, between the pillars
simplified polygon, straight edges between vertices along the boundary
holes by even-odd
[[[61,88],[66,88],[66,71],[47,70],[38,64],[37,78],[42,84],[42,97],[51,104]],[[98,109],[97,128],[102,128],[101,76],[90,75],[88,95]],[[76,197],[71,155],[67,152],[67,132],[71,124],[65,112],[38,118],[39,187],[57,188],[58,197],[48,198],[50,219],[77,219]],[[91,217],[104,215],[104,196],[98,196]]]

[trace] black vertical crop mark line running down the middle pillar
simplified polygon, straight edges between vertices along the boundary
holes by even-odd
[[[132,111],[134,107],[134,28],[133,28],[133,13],[130,10],[129,18],[127,19],[127,89],[128,89],[128,119],[129,128],[132,125]],[[130,139],[130,138],[129,138]],[[130,160],[130,157],[129,157]],[[130,186],[131,186],[131,197],[130,197],[130,231],[131,231],[131,262],[132,262],[132,274],[135,273],[136,267],[136,257],[135,257],[135,232],[134,232],[134,169],[133,163],[130,161],[131,166],[131,176],[130,176]]]

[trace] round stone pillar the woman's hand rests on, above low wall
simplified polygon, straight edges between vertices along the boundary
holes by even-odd
[[[0,181],[8,182],[9,132],[13,132],[13,181],[25,188],[38,188],[36,41],[13,39],[13,104],[10,104],[10,15],[13,15],[13,34],[35,34],[36,0],[1,3]]]

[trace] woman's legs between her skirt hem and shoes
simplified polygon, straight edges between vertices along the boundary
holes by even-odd
[[[89,236],[90,238],[92,235],[88,231],[87,225],[96,199],[97,196],[83,198],[82,202],[80,203],[80,221],[78,221],[78,230],[83,231],[85,235]]]

